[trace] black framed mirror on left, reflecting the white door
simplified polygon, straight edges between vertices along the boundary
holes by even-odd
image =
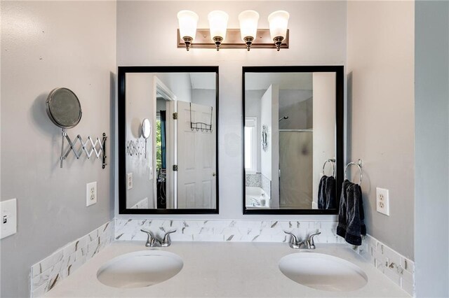
[[[119,66],[119,213],[218,213],[218,66]]]

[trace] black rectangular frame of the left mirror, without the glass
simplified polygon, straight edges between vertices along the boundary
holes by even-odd
[[[119,66],[118,75],[118,162],[119,162],[119,214],[218,214],[218,66]],[[131,209],[126,208],[126,73],[215,73],[215,162],[217,164],[215,209]]]

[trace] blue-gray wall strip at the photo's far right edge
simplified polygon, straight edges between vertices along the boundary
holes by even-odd
[[[415,2],[417,297],[449,297],[449,2]]]

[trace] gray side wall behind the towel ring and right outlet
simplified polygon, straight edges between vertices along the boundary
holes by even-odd
[[[414,3],[349,1],[347,17],[347,154],[363,160],[368,234],[413,260]],[[389,216],[376,187],[389,190]]]

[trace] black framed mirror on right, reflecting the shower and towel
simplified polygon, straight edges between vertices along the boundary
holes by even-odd
[[[243,214],[337,214],[343,66],[243,66]]]

